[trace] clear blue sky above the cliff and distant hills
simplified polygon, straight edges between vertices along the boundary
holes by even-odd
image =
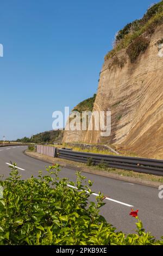
[[[116,32],[152,3],[1,0],[0,139],[52,130],[53,111],[96,93]]]

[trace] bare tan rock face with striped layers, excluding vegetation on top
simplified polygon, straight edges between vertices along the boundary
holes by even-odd
[[[116,54],[124,60],[123,65],[114,65],[113,58],[105,59],[93,111],[111,110],[111,135],[70,131],[65,142],[118,144],[141,156],[163,156],[163,45],[157,43],[162,38],[160,25],[134,63],[126,49]]]

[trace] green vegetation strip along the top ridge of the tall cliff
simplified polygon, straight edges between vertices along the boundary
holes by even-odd
[[[154,4],[147,10],[147,13],[140,20],[129,23],[118,32],[115,40],[115,47],[105,56],[105,60],[112,58],[123,48],[127,48],[139,36],[151,36],[155,28],[163,23],[163,1]]]

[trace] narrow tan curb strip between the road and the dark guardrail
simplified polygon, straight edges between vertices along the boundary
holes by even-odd
[[[60,162],[58,160],[56,161],[55,159],[54,160],[45,160],[45,159],[42,159],[41,155],[40,156],[35,156],[35,155],[32,155],[33,154],[32,152],[27,152],[26,150],[24,151],[24,154],[29,156],[29,157],[32,157],[34,159],[43,161],[43,162],[47,162],[47,163],[51,163],[51,164],[57,163],[57,164],[60,164],[62,167],[65,167],[65,168],[68,168],[68,169],[73,169],[73,170],[76,169],[76,170],[82,171],[84,173],[95,174],[95,175],[99,175],[99,176],[103,176],[103,177],[107,177],[107,178],[111,178],[111,179],[122,180],[122,181],[130,182],[130,183],[134,183],[134,184],[139,184],[139,185],[144,185],[144,186],[149,186],[149,187],[158,188],[160,185],[162,185],[161,182],[157,182],[157,181],[142,180],[141,178],[121,176],[121,175],[118,175],[116,173],[109,173],[109,172],[105,172],[105,171],[102,171],[102,170],[91,170],[87,167],[77,167],[73,164],[63,163],[63,162]]]

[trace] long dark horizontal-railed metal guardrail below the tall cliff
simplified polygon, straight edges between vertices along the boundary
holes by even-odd
[[[95,165],[103,161],[110,168],[133,170],[139,173],[154,174],[159,176],[163,175],[163,160],[83,153],[65,149],[58,149],[57,152],[58,157],[61,159],[82,163],[87,163],[88,159],[92,159],[92,162]]]

